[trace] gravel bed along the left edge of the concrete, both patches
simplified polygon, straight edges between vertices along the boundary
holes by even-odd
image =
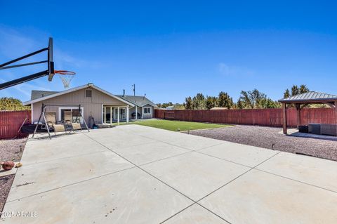
[[[27,138],[14,140],[0,140],[0,161],[19,162],[22,157],[22,152],[25,149]],[[11,190],[15,175],[8,175],[0,178],[0,211],[4,209],[6,199]]]

